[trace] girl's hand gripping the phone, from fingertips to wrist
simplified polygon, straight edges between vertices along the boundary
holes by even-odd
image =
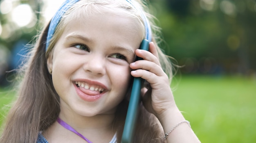
[[[153,42],[149,44],[149,52],[137,49],[135,54],[144,60],[130,64],[130,68],[134,69],[131,75],[141,77],[149,83],[150,88],[142,90],[143,104],[150,113],[156,115],[157,118],[161,118],[166,111],[176,107],[168,76],[159,63],[157,50]]]

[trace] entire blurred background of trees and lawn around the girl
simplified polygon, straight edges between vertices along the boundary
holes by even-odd
[[[171,87],[207,143],[256,141],[256,0],[149,0],[161,47],[179,65]],[[22,49],[63,0],[0,0],[0,124]],[[56,6],[58,5],[58,6]]]

